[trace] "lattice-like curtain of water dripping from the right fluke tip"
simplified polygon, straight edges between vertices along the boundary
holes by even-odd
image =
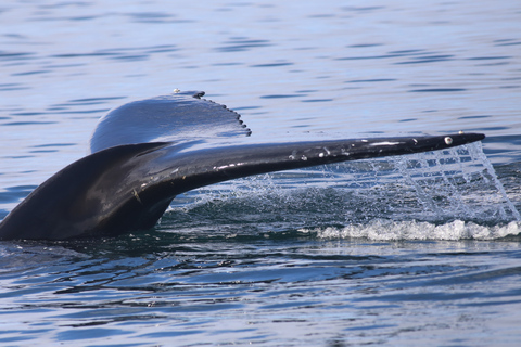
[[[396,157],[394,163],[419,202],[439,217],[495,222],[521,220],[481,142]]]

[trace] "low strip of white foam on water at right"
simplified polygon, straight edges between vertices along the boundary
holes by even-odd
[[[369,239],[373,241],[407,240],[499,240],[521,234],[521,222],[511,221],[504,226],[480,226],[470,221],[454,220],[444,224],[427,221],[394,221],[376,219],[366,224],[344,228],[301,230],[316,233],[319,239]]]

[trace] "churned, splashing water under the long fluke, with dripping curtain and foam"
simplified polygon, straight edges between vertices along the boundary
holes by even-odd
[[[514,192],[510,192],[512,195]],[[260,175],[176,200],[176,229],[318,237],[493,240],[521,218],[481,143],[381,159]],[[245,231],[247,230],[247,231]]]

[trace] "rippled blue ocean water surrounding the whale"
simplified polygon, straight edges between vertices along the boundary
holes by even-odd
[[[0,345],[520,345],[519,1],[10,0],[0,23],[0,219],[109,110],[176,88],[263,141],[487,136],[0,242]]]

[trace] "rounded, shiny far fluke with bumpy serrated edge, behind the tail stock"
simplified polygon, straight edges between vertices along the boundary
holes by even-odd
[[[237,112],[202,99],[204,94],[179,91],[116,107],[100,119],[90,150],[94,153],[122,144],[211,141],[252,133]]]

